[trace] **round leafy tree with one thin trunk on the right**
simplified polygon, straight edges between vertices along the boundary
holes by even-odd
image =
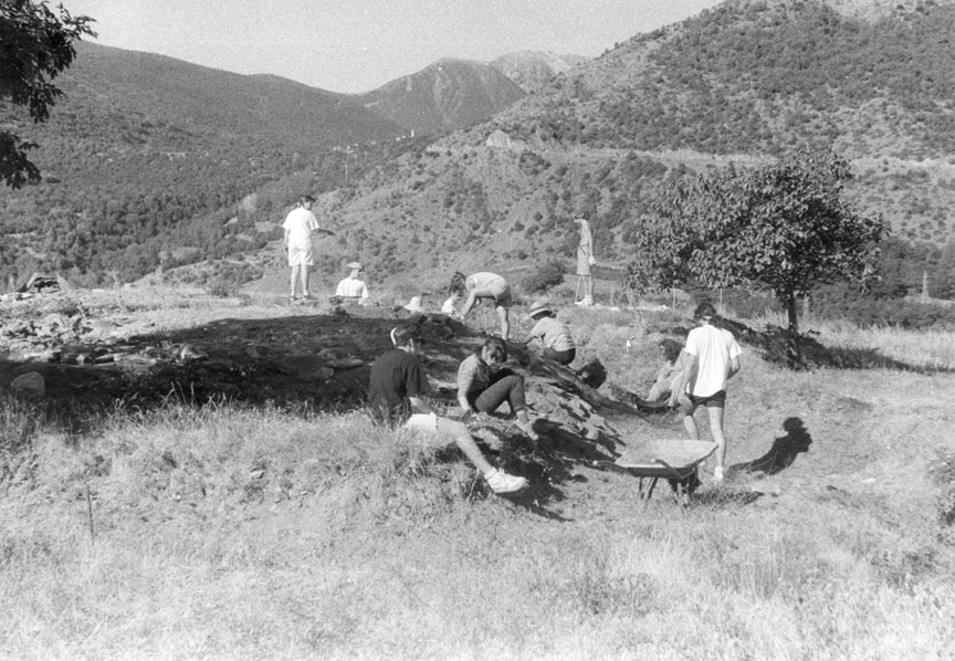
[[[637,237],[630,282],[773,292],[798,367],[797,301],[822,283],[868,282],[889,231],[881,217],[863,217],[846,200],[850,176],[836,154],[800,150],[762,168],[676,180]]]

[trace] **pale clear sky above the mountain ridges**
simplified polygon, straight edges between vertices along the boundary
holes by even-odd
[[[332,92],[369,92],[441,57],[597,56],[720,0],[56,0],[108,46]]]

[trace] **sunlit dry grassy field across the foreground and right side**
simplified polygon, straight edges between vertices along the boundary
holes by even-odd
[[[684,323],[562,316],[636,391]],[[358,413],[172,399],[77,430],[4,395],[0,658],[948,659],[955,338],[807,329],[880,366],[793,373],[744,343],[728,479],[689,506],[585,462],[495,497]]]

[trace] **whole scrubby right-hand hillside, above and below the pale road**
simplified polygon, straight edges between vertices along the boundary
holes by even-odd
[[[601,261],[620,264],[665,179],[831,146],[852,161],[849,197],[904,243],[890,261],[914,260],[890,266],[904,283],[885,288],[917,292],[927,273],[933,295],[951,295],[955,3],[880,17],[721,6],[406,155],[330,200],[330,213],[349,254],[388,273],[568,263],[577,213],[591,217]]]

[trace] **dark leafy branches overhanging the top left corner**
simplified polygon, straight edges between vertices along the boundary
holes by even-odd
[[[34,123],[45,122],[50,107],[63,92],[51,82],[73,63],[73,42],[95,36],[90,17],[59,14],[46,2],[0,0],[0,101],[27,106]],[[40,181],[40,169],[28,158],[34,143],[0,130],[0,179],[20,188]]]

